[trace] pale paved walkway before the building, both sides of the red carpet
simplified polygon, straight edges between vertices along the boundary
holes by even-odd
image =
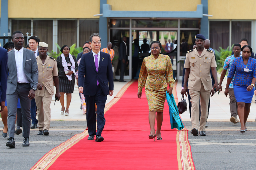
[[[117,93],[120,91],[120,89],[129,82],[129,80],[126,80],[127,82],[114,82],[114,94],[109,97],[107,96],[107,101],[111,101]],[[54,106],[54,96],[53,101],[51,103],[51,120],[86,120],[86,116],[83,115],[83,110],[80,110],[80,98],[78,95],[77,86],[75,86],[74,93],[72,94],[72,100],[69,108],[69,116],[60,115],[61,111],[61,104],[60,101],[56,101]],[[181,81],[178,81],[177,84],[177,95],[179,101],[181,100]],[[188,104],[188,97],[185,97]],[[66,96],[64,104],[66,105]],[[220,94],[216,93],[213,97],[211,97],[211,106],[210,106],[210,112],[209,112],[209,118],[208,121],[230,121],[230,109],[229,109],[229,97],[226,97],[224,95],[224,91],[221,91]],[[181,118],[183,121],[190,121],[189,116],[189,110],[184,112],[181,115]],[[248,121],[255,121],[256,118],[256,104],[252,103],[251,105],[251,112],[248,117]]]

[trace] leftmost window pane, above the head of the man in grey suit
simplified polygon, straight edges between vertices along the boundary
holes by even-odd
[[[11,35],[14,31],[21,31],[24,36],[31,33],[31,20],[11,20]],[[7,33],[5,33],[7,35]]]

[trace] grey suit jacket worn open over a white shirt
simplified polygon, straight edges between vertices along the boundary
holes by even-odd
[[[36,57],[33,51],[23,48],[23,70],[30,82],[31,88],[37,87],[38,67]],[[8,79],[6,94],[13,94],[17,88],[17,67],[14,55],[14,49],[8,52]]]

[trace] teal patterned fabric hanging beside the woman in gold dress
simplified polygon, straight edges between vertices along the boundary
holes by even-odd
[[[178,111],[177,105],[175,103],[174,97],[172,94],[170,95],[168,93],[168,91],[166,91],[166,100],[167,100],[168,106],[169,106],[171,128],[178,129],[178,130],[183,129],[184,125],[181,121],[181,117],[179,115],[179,111]]]

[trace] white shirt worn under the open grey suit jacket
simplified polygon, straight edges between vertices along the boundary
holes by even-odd
[[[16,61],[16,69],[17,69],[17,79],[18,83],[29,83],[24,70],[23,70],[23,47],[18,51],[14,48],[14,55],[15,55],[15,61]]]

